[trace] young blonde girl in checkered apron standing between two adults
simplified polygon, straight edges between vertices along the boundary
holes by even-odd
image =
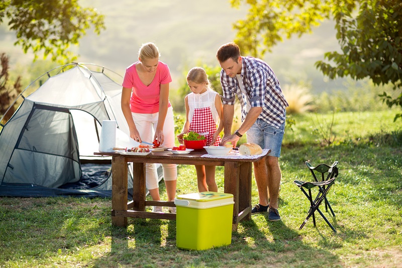
[[[187,84],[191,93],[184,98],[186,121],[183,131],[177,135],[183,143],[183,135],[189,131],[202,134],[207,138],[207,145],[219,145],[223,130],[223,106],[219,94],[213,91],[211,82],[203,68],[194,67],[187,74]],[[219,127],[217,124],[219,121]],[[218,192],[215,182],[214,165],[195,165],[199,192]]]

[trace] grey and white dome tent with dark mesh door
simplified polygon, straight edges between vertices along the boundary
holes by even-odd
[[[0,196],[111,196],[110,167],[96,183],[83,182],[82,172],[84,160],[96,158],[103,120],[116,120],[128,139],[122,86],[105,70],[88,63],[59,66],[31,83],[47,78],[31,95],[23,96],[31,85],[20,95],[24,101],[0,132]],[[78,187],[66,189],[71,185]]]

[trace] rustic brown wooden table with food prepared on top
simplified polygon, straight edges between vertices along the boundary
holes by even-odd
[[[127,226],[127,217],[175,220],[174,213],[146,212],[145,206],[174,207],[174,202],[147,201],[145,186],[145,163],[169,163],[187,165],[220,165],[225,167],[224,192],[232,194],[233,230],[240,220],[251,219],[251,163],[256,159],[201,157],[205,149],[189,154],[173,154],[170,151],[152,152],[148,155],[123,155],[118,152],[95,152],[95,155],[112,156],[112,224]],[[269,153],[269,150],[268,152]],[[133,201],[127,200],[128,162],[133,162]],[[180,180],[180,174],[178,174]],[[196,182],[196,177],[194,177]]]

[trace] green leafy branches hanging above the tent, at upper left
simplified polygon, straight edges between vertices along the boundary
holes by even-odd
[[[32,50],[35,59],[43,52],[61,63],[76,60],[69,50],[77,45],[91,26],[99,34],[105,29],[104,16],[94,8],[82,8],[77,0],[2,0],[0,24],[8,19],[10,30],[16,31],[15,45],[25,53]]]

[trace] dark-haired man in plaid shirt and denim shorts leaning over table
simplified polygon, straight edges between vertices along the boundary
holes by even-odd
[[[278,221],[281,179],[278,158],[288,103],[282,94],[278,79],[268,64],[257,58],[242,57],[235,43],[221,46],[217,52],[217,59],[222,67],[225,126],[221,145],[232,142],[236,146],[239,139],[247,132],[247,142],[271,150],[267,157],[254,162],[259,204],[253,207],[251,213],[268,212],[268,220]],[[242,107],[242,124],[232,134],[235,95]]]

